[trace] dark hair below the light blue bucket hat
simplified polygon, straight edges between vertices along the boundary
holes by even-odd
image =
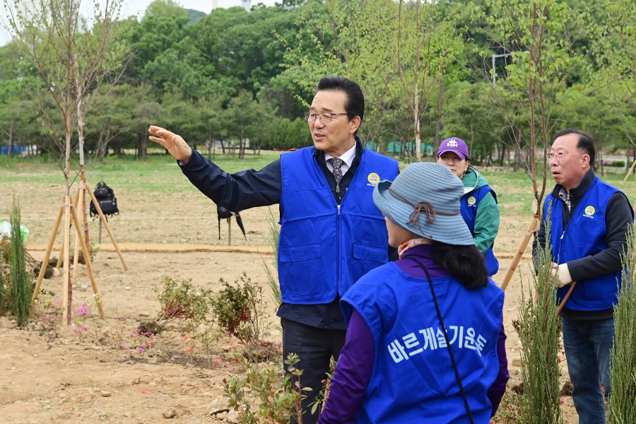
[[[483,254],[475,245],[457,246],[433,242],[433,260],[457,278],[465,288],[488,285],[488,271],[485,269]]]

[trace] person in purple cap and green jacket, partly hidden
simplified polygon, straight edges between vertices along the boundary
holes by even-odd
[[[477,168],[471,166],[464,140],[454,137],[442,141],[437,152],[437,163],[449,167],[464,183],[461,216],[471,230],[477,249],[483,254],[488,275],[494,276],[499,271],[499,261],[493,253],[493,244],[499,232],[497,194]]]

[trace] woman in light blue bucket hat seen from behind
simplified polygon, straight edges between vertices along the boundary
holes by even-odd
[[[400,259],[341,300],[346,343],[319,423],[489,423],[509,377],[504,294],[461,218],[463,194],[437,163],[375,187]]]

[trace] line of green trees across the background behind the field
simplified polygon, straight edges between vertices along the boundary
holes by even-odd
[[[602,151],[625,154],[636,150],[633,8],[628,0],[287,0],[204,15],[156,0],[141,20],[122,22],[114,44],[130,54],[112,71],[121,72],[116,83],[88,87],[85,150],[143,158],[150,124],[201,151],[210,140],[240,153],[247,139],[254,152],[310,146],[302,112],[319,78],[337,74],[363,88],[360,135],[383,153],[416,158],[458,136],[476,163],[508,160],[532,173],[536,149],[575,126]],[[47,113],[52,100],[41,96],[35,107],[25,90],[35,81],[33,94],[41,78],[15,42],[0,47],[4,144],[54,151],[52,127],[64,124]]]

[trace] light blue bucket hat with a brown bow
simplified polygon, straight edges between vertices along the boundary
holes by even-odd
[[[475,241],[459,213],[464,184],[439,163],[411,163],[393,182],[381,181],[373,201],[384,216],[404,230],[448,245]]]

